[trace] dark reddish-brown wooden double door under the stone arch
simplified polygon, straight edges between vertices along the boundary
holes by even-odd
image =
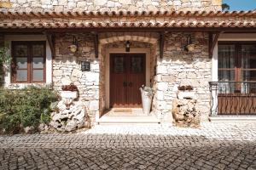
[[[141,107],[145,54],[110,54],[110,107]]]

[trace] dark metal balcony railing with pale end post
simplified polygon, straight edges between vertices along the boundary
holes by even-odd
[[[211,116],[256,116],[256,82],[209,82]]]

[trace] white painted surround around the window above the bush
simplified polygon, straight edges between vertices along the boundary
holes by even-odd
[[[45,41],[46,42],[46,83],[41,85],[50,84],[52,82],[52,54],[49,48],[49,43],[45,35],[7,35],[4,36],[4,42],[11,49],[12,41]],[[11,73],[8,72],[4,77],[4,87],[14,88],[12,85],[18,85],[19,88],[24,88],[32,83],[11,83]]]

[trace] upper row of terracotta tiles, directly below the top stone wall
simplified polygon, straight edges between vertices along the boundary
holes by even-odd
[[[196,17],[223,17],[223,16],[256,16],[256,10],[253,11],[111,11],[111,12],[0,12],[0,18],[48,18],[48,17],[104,17],[104,16],[196,16]]]

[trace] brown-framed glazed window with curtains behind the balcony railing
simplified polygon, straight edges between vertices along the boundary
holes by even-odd
[[[218,82],[223,82],[219,91],[252,93],[246,82],[253,81],[256,81],[256,42],[218,42]],[[241,82],[240,87],[236,82]]]

